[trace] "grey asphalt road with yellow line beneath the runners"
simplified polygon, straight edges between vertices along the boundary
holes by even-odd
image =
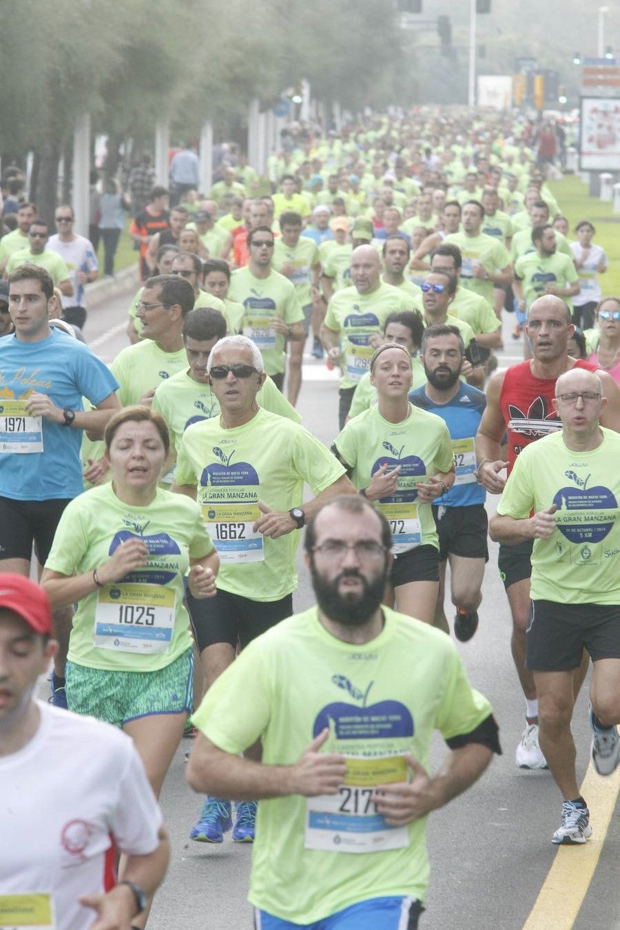
[[[119,284],[117,291],[122,291]],[[89,313],[86,339],[106,362],[126,344],[126,308],[133,288],[125,289]],[[512,319],[504,323],[506,349],[499,352],[500,366],[520,361],[520,349],[510,338]],[[329,445],[337,432],[337,379],[324,364],[308,356],[304,364],[299,411],[303,424]],[[496,499],[490,498],[489,512]],[[309,578],[299,560],[299,589],[295,609],[312,604]],[[524,725],[524,700],[510,658],[508,603],[496,569],[496,546],[483,583],[480,627],[468,644],[458,644],[471,682],[494,705],[500,725],[504,754],[481,781],[429,819],[431,861],[430,891],[424,930],[516,930],[527,922],[528,930],[617,930],[620,927],[620,825],[615,804],[609,830],[592,817],[593,839],[585,847],[562,849],[559,876],[553,890],[558,899],[549,910],[534,903],[547,873],[558,856],[551,835],[560,823],[561,795],[547,772],[523,772],[515,767],[514,751]],[[449,604],[448,604],[449,607]],[[446,607],[446,613],[451,612]],[[589,680],[589,678],[588,678]],[[579,783],[588,767],[589,727],[587,685],[574,711]],[[172,862],[160,893],[155,898],[151,930],[229,930],[251,927],[246,902],[251,848],[233,844],[230,833],[221,845],[197,844],[189,830],[201,800],[184,780],[184,752],[191,740],[183,740],[170,768],[162,794],[165,820],[172,840]],[[433,764],[440,764],[442,740],[436,741]],[[620,772],[615,777],[596,777],[603,800],[617,801]],[[604,842],[603,842],[604,836]],[[584,903],[579,906],[574,880],[585,857],[600,860]],[[580,858],[582,857],[581,861]],[[566,864],[568,863],[568,864]],[[557,868],[557,867],[556,867]],[[551,882],[550,884],[553,884]],[[549,883],[545,886],[546,889]],[[576,902],[576,903],[575,903]],[[528,921],[528,915],[532,916]]]

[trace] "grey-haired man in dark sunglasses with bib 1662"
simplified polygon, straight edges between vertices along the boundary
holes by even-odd
[[[175,489],[202,504],[220,557],[218,593],[208,611],[188,599],[210,687],[233,662],[238,642],[243,649],[293,613],[297,530],[325,500],[355,488],[310,432],[258,406],[267,376],[255,342],[244,336],[220,339],[206,373],[219,416],[183,433]],[[307,502],[304,482],[314,494]],[[233,840],[252,842],[255,814],[256,804],[238,810]],[[191,839],[221,843],[230,827],[230,804],[207,798]]]

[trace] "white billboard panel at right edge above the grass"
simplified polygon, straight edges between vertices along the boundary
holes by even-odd
[[[581,98],[580,171],[620,171],[620,99]]]

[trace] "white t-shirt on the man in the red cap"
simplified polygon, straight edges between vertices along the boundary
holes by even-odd
[[[37,705],[34,737],[0,757],[0,926],[21,925],[7,900],[20,895],[22,921],[26,909],[42,930],[87,930],[96,914],[78,897],[111,887],[112,838],[123,852],[147,856],[159,843],[162,814],[125,733]]]

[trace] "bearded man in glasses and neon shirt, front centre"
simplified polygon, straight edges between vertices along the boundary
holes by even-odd
[[[194,717],[192,788],[264,799],[249,894],[262,930],[416,930],[426,817],[500,752],[450,639],[381,606],[390,544],[362,497],[325,504],[305,539],[318,606],[251,643]],[[433,777],[435,728],[451,751]],[[258,737],[261,761],[244,759]]]

